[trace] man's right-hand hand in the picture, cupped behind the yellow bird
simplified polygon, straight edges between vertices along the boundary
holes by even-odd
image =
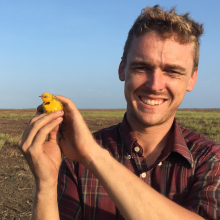
[[[64,107],[62,138],[60,147],[63,154],[70,160],[86,165],[92,156],[102,149],[94,140],[82,115],[75,104],[68,98],[56,95]]]

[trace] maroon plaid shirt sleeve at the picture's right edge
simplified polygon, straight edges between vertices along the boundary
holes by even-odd
[[[220,219],[220,148],[214,145],[201,155],[184,207],[205,219]]]

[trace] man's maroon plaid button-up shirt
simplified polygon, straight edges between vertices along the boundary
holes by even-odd
[[[94,133],[98,144],[146,184],[207,219],[220,219],[220,146],[176,120],[156,162],[147,167],[142,147],[124,117],[122,123]],[[136,152],[134,148],[139,147]],[[138,186],[137,186],[138,187]],[[124,219],[99,180],[82,164],[64,159],[59,173],[60,219]]]

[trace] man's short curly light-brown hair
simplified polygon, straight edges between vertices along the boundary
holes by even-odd
[[[199,41],[203,34],[203,25],[193,21],[189,17],[189,13],[179,15],[176,14],[175,8],[164,11],[158,5],[144,8],[130,29],[122,57],[124,65],[127,63],[127,54],[133,39],[152,31],[162,39],[174,37],[181,44],[193,43],[194,65],[192,72],[194,72],[199,63]]]

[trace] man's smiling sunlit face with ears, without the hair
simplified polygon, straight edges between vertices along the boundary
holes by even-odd
[[[186,91],[196,83],[192,44],[173,38],[162,40],[155,32],[134,38],[126,65],[119,66],[125,81],[128,121],[136,126],[172,123]]]

